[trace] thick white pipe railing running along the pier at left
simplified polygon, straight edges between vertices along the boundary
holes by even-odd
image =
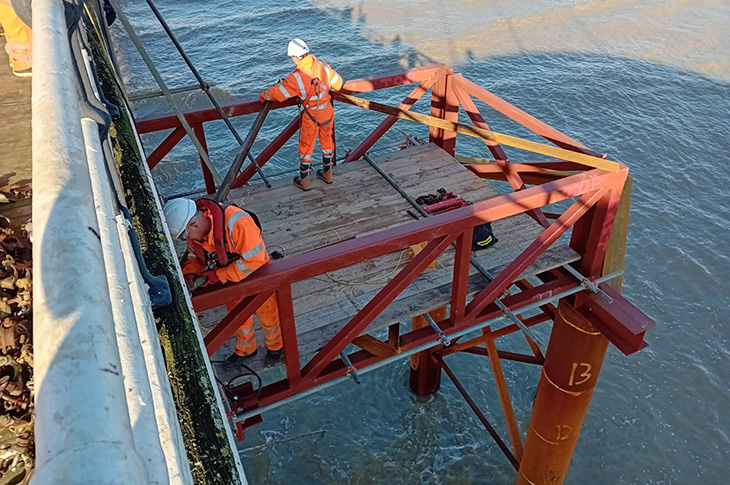
[[[31,481],[192,483],[150,296],[112,195],[79,9],[32,9]]]

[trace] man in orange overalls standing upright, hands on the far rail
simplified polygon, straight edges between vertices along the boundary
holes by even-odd
[[[318,61],[310,54],[309,47],[302,39],[289,42],[287,55],[297,68],[281,82],[263,91],[259,100],[265,103],[293,97],[300,99],[304,113],[299,130],[299,176],[294,178],[294,185],[309,190],[309,172],[317,135],[322,147],[322,170],[317,170],[317,177],[328,184],[333,182],[335,109],[329,92],[330,89],[338,91],[342,87],[342,78],[326,62]]]

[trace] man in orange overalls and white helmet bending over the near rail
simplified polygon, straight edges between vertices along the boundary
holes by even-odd
[[[180,198],[165,204],[163,211],[172,236],[187,236],[183,275],[188,289],[193,289],[199,276],[207,278],[204,285],[236,282],[271,262],[257,219],[235,205]],[[227,303],[228,311],[239,301]],[[283,353],[276,295],[266,300],[256,315],[264,327],[268,349],[265,365],[269,367],[280,362]],[[236,331],[236,351],[227,362],[240,364],[256,350],[251,317]]]

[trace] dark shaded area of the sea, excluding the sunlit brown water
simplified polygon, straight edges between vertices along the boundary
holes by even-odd
[[[245,65],[230,46],[211,52],[199,45],[189,52],[204,76],[234,97],[252,97],[288,72],[291,66],[272,55],[278,52],[272,45],[293,35],[322,39],[310,45],[319,44],[315,52],[346,79],[431,63],[399,37],[382,43],[364,40],[363,21],[355,10],[340,11],[334,20],[316,8],[297,11],[299,23],[292,30],[291,20],[282,14],[283,2],[267,8],[275,15],[259,12],[235,18],[248,22],[240,41],[247,45]],[[232,21],[222,19],[220,28],[233,29],[228,25]],[[180,30],[190,36],[196,28],[187,24]],[[216,69],[204,62],[205,56],[218,59]],[[730,297],[725,275],[730,273],[730,252],[725,241],[730,240],[730,230],[724,207],[730,197],[730,85],[604,55],[483,59],[467,52],[467,59],[455,70],[626,163],[635,179],[624,292],[658,326],[648,336],[647,350],[631,357],[609,350],[566,483],[693,483],[697,477],[712,483],[727,475],[730,417],[724,408],[730,402],[725,382],[730,368]],[[168,70],[174,77],[174,67]],[[393,89],[378,99],[395,104],[410,89]],[[416,106],[427,110],[428,101]],[[527,135],[511,120],[478,106],[495,131]],[[254,153],[293,116],[280,111],[267,120]],[[357,145],[381,119],[338,106],[338,151]],[[241,132],[250,122],[248,117],[235,121]],[[235,147],[222,124],[209,125],[212,158],[220,159],[223,167]],[[405,134],[427,136],[422,127],[401,121],[383,143]],[[468,137],[458,138],[457,151],[488,156],[481,142]],[[200,182],[193,153],[190,147],[176,149],[169,163],[180,168],[156,173],[163,192]],[[524,152],[508,154],[514,161],[530,160]],[[296,142],[290,141],[270,168],[289,168],[295,159]],[[542,332],[547,337],[549,329]],[[512,350],[516,340],[498,344]],[[488,362],[474,356],[453,358],[452,368],[506,436]],[[539,369],[504,365],[524,434]],[[246,452],[249,478],[271,484],[513,483],[512,467],[450,383],[444,382],[437,396],[419,402],[409,394],[407,381],[408,363],[401,362],[363,376],[361,386],[341,384],[267,413],[263,425],[248,431],[242,448],[317,429],[327,433],[316,442],[303,438]]]

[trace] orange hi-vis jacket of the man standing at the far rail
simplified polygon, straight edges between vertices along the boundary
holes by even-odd
[[[280,83],[263,93],[268,101],[284,101],[298,96],[308,110],[325,109],[330,102],[330,89],[338,91],[342,78],[326,62],[320,62],[312,54],[302,59],[297,68]]]

